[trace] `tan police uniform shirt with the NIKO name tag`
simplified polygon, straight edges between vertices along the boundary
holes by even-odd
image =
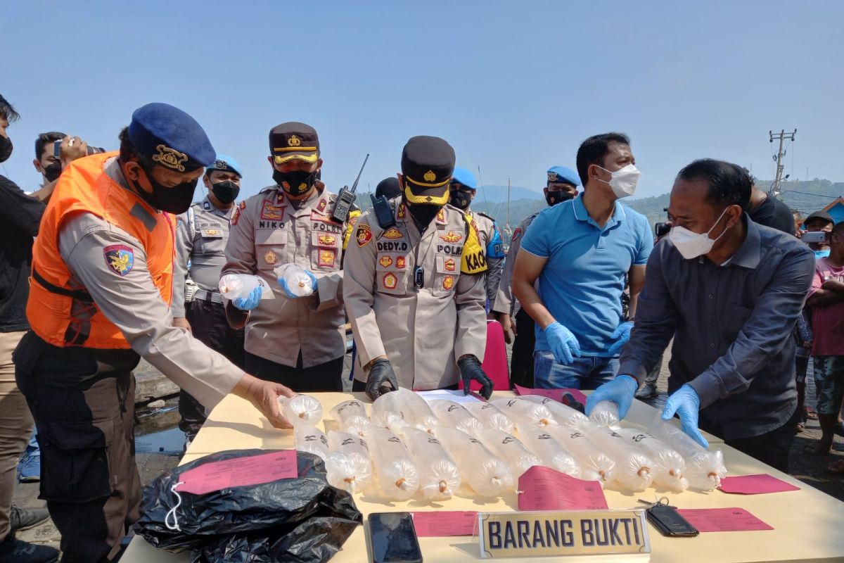
[[[226,263],[221,275],[252,273],[267,280],[273,299],[242,311],[226,306],[232,326],[246,317],[246,351],[282,365],[324,364],[346,353],[343,310],[345,224],[331,218],[336,194],[317,181],[314,196],[296,208],[277,186],[241,202],[231,219]],[[288,299],[274,269],[297,263],[317,278],[317,293]]]

